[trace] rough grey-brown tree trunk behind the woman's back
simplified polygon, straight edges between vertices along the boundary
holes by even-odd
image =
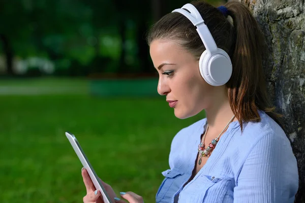
[[[299,190],[305,202],[305,11],[303,0],[239,0],[246,3],[266,36],[265,74],[273,104],[298,162]]]

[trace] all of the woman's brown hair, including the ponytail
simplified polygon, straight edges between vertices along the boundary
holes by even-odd
[[[225,50],[231,58],[233,71],[226,87],[241,130],[242,122],[260,121],[258,110],[266,112],[281,125],[281,115],[272,107],[266,89],[263,72],[265,39],[248,7],[235,1],[226,3],[224,6],[233,19],[231,24],[227,16],[210,4],[202,1],[191,4],[201,14],[218,48]],[[150,28],[148,45],[157,39],[175,40],[198,60],[205,50],[196,27],[180,13],[169,13]]]

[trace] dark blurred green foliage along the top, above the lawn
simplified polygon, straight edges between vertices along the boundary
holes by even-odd
[[[165,14],[189,2],[162,1],[164,8],[159,9]],[[0,34],[8,38],[15,56],[68,60],[70,66],[65,66],[65,70],[55,62],[59,75],[74,72],[72,64],[77,64],[72,75],[137,72],[143,69],[141,64],[147,64],[141,61],[148,60],[139,58],[139,52],[147,50],[138,49],[143,47],[139,46],[138,32],[143,32],[144,38],[145,30],[140,27],[153,23],[151,8],[151,1],[3,0]],[[118,62],[120,57],[123,63]],[[97,58],[110,61],[97,68],[94,66]]]

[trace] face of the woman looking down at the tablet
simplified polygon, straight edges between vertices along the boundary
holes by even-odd
[[[201,77],[198,60],[191,53],[175,41],[155,40],[150,56],[159,73],[158,93],[166,95],[177,118],[189,118],[212,105],[216,89]]]

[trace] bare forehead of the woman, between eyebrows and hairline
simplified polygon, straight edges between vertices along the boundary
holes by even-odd
[[[155,40],[151,42],[149,52],[155,67],[164,62],[177,63],[183,61],[190,55],[177,42],[172,40]]]

